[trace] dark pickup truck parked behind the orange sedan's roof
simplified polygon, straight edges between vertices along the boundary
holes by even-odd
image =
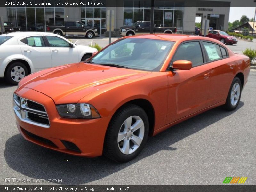
[[[150,22],[149,21],[137,21],[131,26],[123,26],[119,29],[119,34],[121,36],[132,36],[136,34],[144,34],[150,32]],[[176,27],[161,27],[154,25],[154,33],[176,33]]]

